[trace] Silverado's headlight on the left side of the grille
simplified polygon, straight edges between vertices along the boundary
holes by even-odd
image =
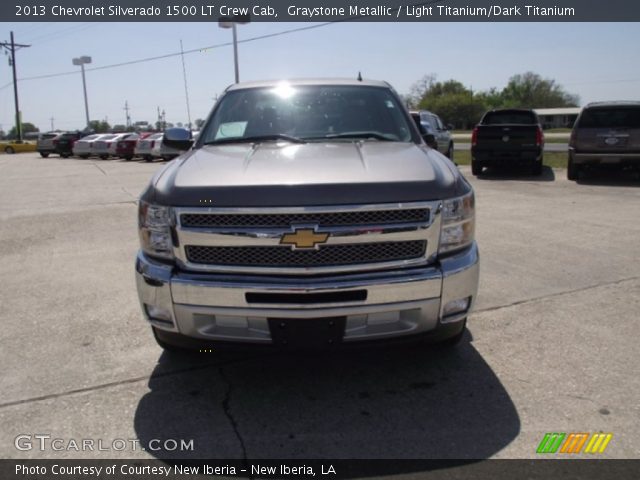
[[[142,251],[154,256],[173,259],[170,207],[153,205],[140,200],[138,203],[138,229]]]

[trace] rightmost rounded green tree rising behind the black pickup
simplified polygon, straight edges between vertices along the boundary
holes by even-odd
[[[502,89],[502,106],[517,108],[576,107],[579,97],[567,93],[555,80],[537,73],[514,75]]]

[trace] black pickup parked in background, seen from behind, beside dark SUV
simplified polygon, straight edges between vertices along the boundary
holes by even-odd
[[[533,110],[497,109],[484,114],[471,134],[471,172],[484,167],[529,167],[542,174],[544,135]]]

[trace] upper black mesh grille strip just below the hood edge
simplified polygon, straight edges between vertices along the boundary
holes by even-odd
[[[316,213],[184,213],[180,224],[186,228],[290,228],[296,224],[320,227],[427,223],[429,209],[354,210]]]

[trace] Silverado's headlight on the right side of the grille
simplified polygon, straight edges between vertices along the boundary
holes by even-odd
[[[471,245],[475,233],[475,200],[473,191],[462,197],[445,200],[442,205],[442,227],[438,253],[451,252]]]

